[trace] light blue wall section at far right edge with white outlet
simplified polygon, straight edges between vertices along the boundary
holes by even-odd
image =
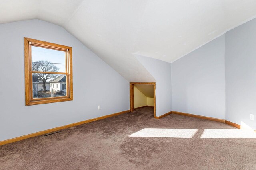
[[[225,65],[226,120],[256,129],[256,19],[226,33]]]

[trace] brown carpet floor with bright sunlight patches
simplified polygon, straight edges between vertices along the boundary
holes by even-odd
[[[256,169],[256,136],[145,107],[0,146],[1,170]]]

